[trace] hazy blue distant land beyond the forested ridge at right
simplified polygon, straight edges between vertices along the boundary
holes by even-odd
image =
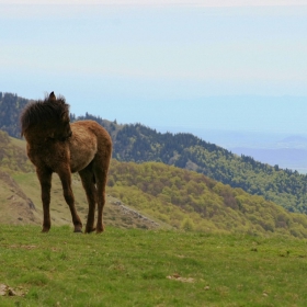
[[[160,126],[159,130],[177,134],[182,127]],[[286,133],[207,130],[189,127],[194,135],[216,144],[239,156],[250,156],[257,161],[280,166],[283,169],[307,173],[307,135]],[[295,149],[295,150],[291,150]],[[299,150],[296,150],[299,149]]]

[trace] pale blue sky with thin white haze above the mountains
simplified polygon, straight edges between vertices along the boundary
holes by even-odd
[[[307,133],[307,0],[0,0],[0,91],[151,127]]]

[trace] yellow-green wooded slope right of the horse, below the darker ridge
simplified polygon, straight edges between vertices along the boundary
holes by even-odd
[[[109,193],[178,229],[307,238],[307,216],[163,163],[112,161]]]

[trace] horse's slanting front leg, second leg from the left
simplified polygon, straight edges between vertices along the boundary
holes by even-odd
[[[69,170],[61,169],[61,171],[58,171],[59,179],[61,181],[64,197],[66,203],[69,206],[72,223],[75,226],[75,232],[82,232],[82,223],[80,217],[77,214],[76,207],[75,207],[75,197],[71,189],[71,175]]]

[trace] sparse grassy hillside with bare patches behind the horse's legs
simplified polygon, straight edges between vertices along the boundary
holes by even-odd
[[[88,203],[79,177],[73,175],[72,189],[78,214],[87,220]],[[56,174],[52,187],[52,224],[71,225],[71,216],[62,196],[61,184]],[[25,141],[11,138],[0,130],[0,224],[42,225],[43,207],[41,187],[32,163],[25,155]],[[105,224],[123,228],[155,229],[168,225],[123,204],[107,195],[104,211]]]

